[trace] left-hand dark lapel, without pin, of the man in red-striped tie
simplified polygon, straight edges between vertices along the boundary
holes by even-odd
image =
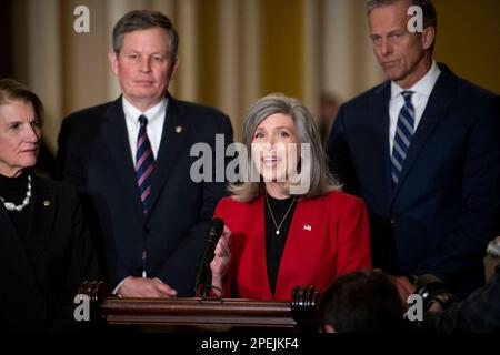
[[[136,212],[142,219],[142,204],[139,187],[137,186],[136,170],[130,153],[129,133],[121,102],[120,97],[106,111],[101,140],[104,142],[116,166],[118,180],[126,189],[126,193],[132,197]]]

